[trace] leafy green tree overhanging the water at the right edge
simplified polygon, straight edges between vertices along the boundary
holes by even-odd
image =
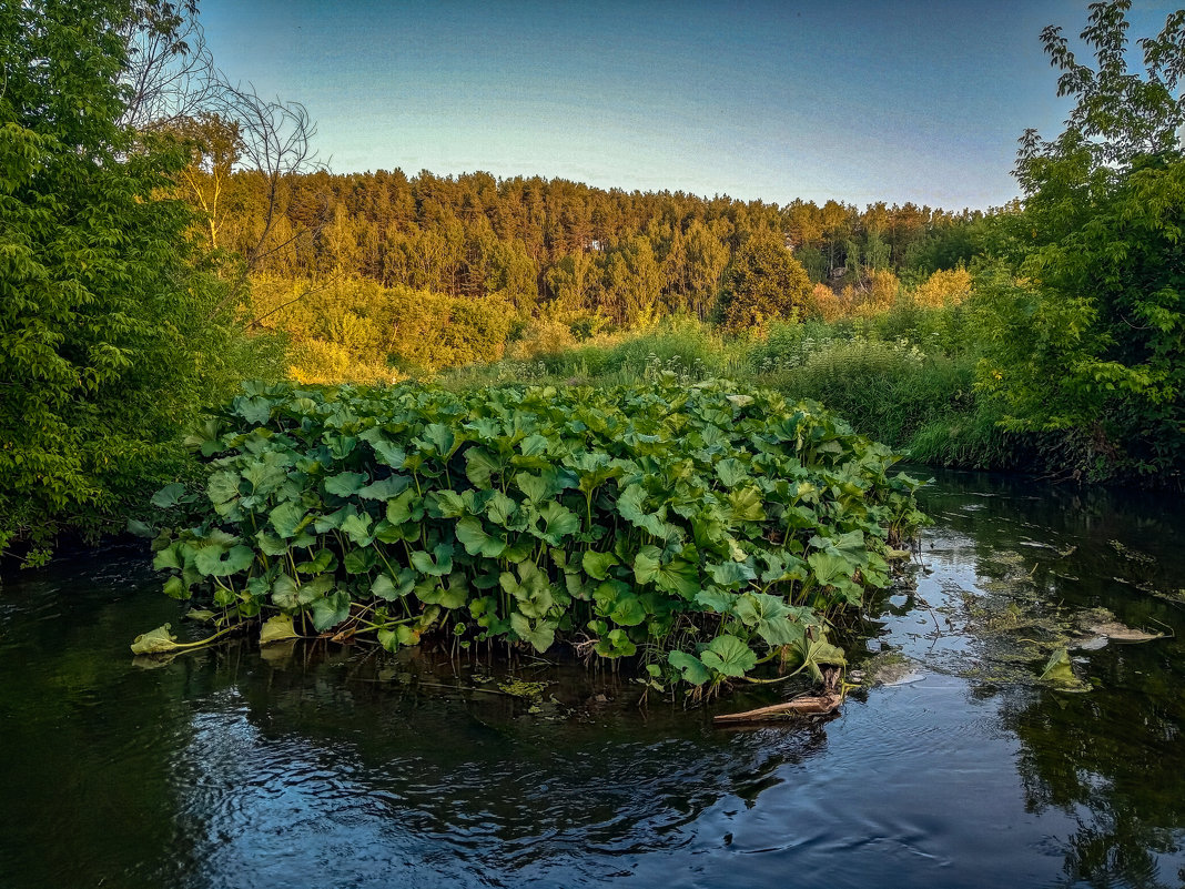
[[[982,385],[1018,429],[1063,430],[1081,469],[1172,475],[1185,460],[1185,11],[1139,41],[1128,70],[1128,0],[1090,6],[1080,62],[1042,33],[1075,98],[1064,132],[1021,137],[1024,209],[995,220],[1004,271],[984,281],[995,322]]]

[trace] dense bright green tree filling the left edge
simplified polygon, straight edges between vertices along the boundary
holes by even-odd
[[[0,551],[116,519],[258,345],[161,198],[186,153],[121,123],[127,34],[167,6],[0,5]]]

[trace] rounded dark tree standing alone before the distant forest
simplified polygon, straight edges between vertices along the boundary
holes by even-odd
[[[811,298],[811,279],[775,232],[751,236],[724,273],[718,305],[734,332],[763,327],[801,314]]]

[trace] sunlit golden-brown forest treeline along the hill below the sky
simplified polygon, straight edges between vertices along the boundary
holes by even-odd
[[[230,172],[232,162],[233,154],[216,168],[203,158],[181,194],[206,217],[201,235],[237,255],[254,251],[258,274],[497,296],[523,315],[591,312],[619,326],[675,313],[711,319],[726,269],[757,236],[792,251],[811,282],[860,288],[871,271],[914,281],[967,262],[984,217],[915,204],[860,210],[834,200],[777,205],[626,192],[480,172],[314,172],[284,178],[273,194],[265,177]]]

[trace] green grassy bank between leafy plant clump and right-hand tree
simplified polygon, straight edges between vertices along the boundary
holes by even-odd
[[[726,338],[693,319],[668,319],[619,339],[601,338],[459,369],[442,383],[465,389],[525,382],[610,385],[728,377],[818,401],[863,435],[937,466],[1023,468],[1031,436],[999,427],[1000,410],[975,389],[979,356],[961,346],[966,319],[902,312],[879,320],[774,325],[764,337]],[[512,350],[513,351],[513,350]]]

